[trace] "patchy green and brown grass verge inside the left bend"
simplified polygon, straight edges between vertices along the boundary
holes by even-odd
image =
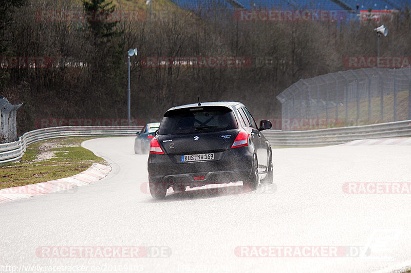
[[[87,170],[103,158],[82,148],[92,138],[50,139],[31,144],[20,162],[0,166],[0,189],[70,177]]]

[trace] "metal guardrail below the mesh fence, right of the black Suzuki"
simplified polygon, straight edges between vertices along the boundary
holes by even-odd
[[[411,136],[411,120],[307,131],[264,131],[272,146],[342,144],[352,140]]]

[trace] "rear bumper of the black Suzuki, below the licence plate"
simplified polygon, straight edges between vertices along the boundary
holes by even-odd
[[[148,176],[156,183],[198,186],[230,183],[248,179],[253,164],[249,147],[214,153],[215,160],[181,162],[181,155],[150,154]]]

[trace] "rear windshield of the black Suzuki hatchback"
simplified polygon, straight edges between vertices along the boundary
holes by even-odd
[[[227,107],[196,107],[171,110],[164,114],[159,134],[190,134],[237,129],[238,124]]]

